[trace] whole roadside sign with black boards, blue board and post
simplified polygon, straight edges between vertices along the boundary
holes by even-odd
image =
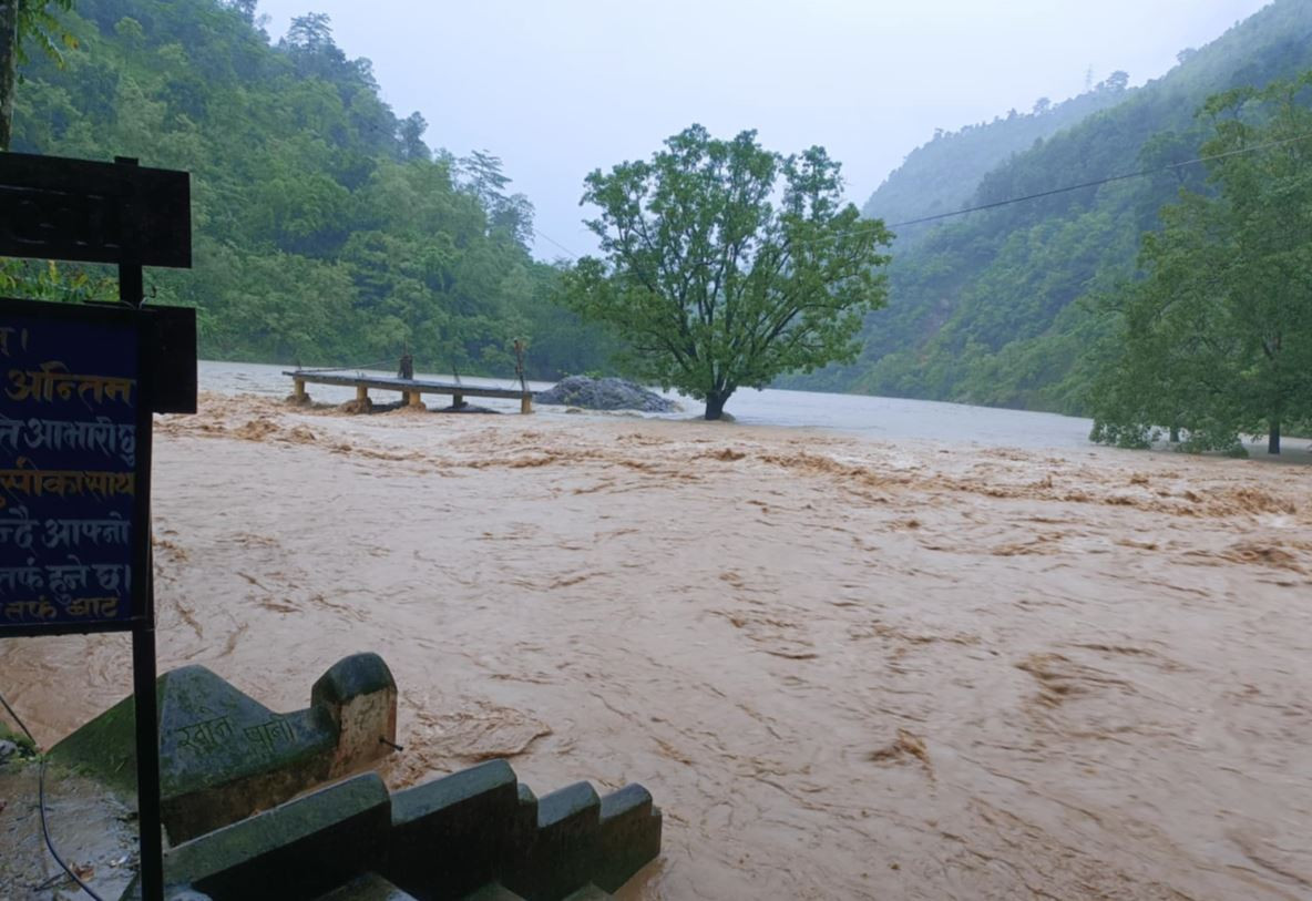
[[[131,631],[140,885],[159,901],[151,417],[195,412],[195,312],[142,310],[142,266],[192,265],[189,176],[0,153],[0,256],[119,268],[119,304],[0,299],[0,637]]]

